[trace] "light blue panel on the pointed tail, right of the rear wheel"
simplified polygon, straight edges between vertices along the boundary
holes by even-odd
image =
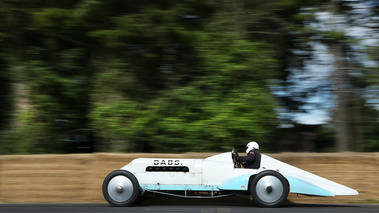
[[[315,195],[315,196],[335,196],[333,193],[329,192],[326,189],[318,187],[310,182],[305,180],[287,176],[289,184],[290,184],[290,192],[297,194],[306,194],[306,195]]]

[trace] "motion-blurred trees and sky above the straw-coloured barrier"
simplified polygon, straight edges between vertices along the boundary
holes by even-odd
[[[0,154],[379,151],[378,15],[378,0],[2,0]]]

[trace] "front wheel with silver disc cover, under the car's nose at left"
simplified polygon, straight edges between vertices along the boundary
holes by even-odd
[[[112,206],[130,206],[139,195],[139,183],[132,173],[116,170],[104,179],[103,195]]]

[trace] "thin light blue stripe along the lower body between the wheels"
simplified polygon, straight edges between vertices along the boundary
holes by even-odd
[[[217,186],[205,185],[141,185],[143,190],[167,190],[167,191],[220,191]]]

